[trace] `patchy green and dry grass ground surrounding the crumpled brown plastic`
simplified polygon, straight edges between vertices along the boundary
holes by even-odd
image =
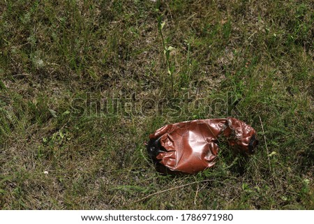
[[[0,208],[314,209],[313,36],[311,0],[0,1]],[[156,172],[150,133],[227,116],[253,156]]]

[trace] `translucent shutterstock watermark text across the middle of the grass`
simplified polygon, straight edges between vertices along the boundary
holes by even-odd
[[[97,98],[87,92],[84,98],[71,102],[72,117],[241,117],[237,105],[241,99],[234,98],[232,92],[224,97],[197,98],[184,94],[180,98],[137,98],[105,97]]]

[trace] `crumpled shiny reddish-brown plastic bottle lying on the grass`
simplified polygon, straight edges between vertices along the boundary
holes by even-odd
[[[165,174],[195,174],[216,163],[220,139],[253,154],[256,131],[238,119],[202,119],[167,124],[149,135],[147,151],[156,169]]]

